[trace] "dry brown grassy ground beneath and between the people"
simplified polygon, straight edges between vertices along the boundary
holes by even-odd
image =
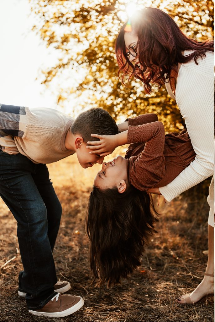
[[[16,221],[0,200],[0,321],[214,321],[213,298],[193,306],[177,305],[175,299],[192,291],[201,281],[207,262],[206,196],[209,182],[198,185],[164,203],[155,196],[159,211],[158,233],[153,236],[141,266],[128,280],[110,289],[91,285],[84,232],[86,205],[95,173],[100,166],[83,170],[75,156],[48,166],[63,207],[54,258],[57,276],[68,280],[69,294],[81,295],[81,310],[64,318],[30,315],[25,300],[17,295],[22,269]],[[204,253],[203,253],[204,251]]]

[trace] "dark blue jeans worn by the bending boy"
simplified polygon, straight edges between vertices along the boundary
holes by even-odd
[[[41,308],[56,294],[52,251],[62,213],[47,166],[0,150],[0,196],[17,221],[19,290],[27,293],[29,309]]]

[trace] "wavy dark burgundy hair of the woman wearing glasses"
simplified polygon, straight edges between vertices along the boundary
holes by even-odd
[[[171,70],[177,72],[178,63],[186,63],[194,59],[198,65],[198,58],[206,57],[206,51],[214,52],[214,42],[207,40],[198,43],[187,37],[177,26],[175,21],[165,12],[157,8],[147,7],[137,11],[131,18],[131,27],[138,36],[139,62],[143,71],[137,65],[129,61],[126,56],[125,26],[121,28],[116,39],[116,58],[119,72],[123,73],[122,81],[126,74],[134,75],[144,83],[144,90],[150,93],[151,83],[159,84],[159,87],[170,79]],[[193,52],[183,56],[185,50]],[[152,70],[147,75],[143,72],[150,67]]]

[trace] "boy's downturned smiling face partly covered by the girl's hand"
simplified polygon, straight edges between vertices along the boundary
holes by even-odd
[[[82,166],[86,169],[93,166],[95,163],[102,164],[104,156],[99,156],[99,154],[90,154],[90,150],[86,148],[87,144],[82,142],[81,146],[76,150],[77,158]]]

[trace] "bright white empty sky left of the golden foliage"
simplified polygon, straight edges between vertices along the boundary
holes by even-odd
[[[0,103],[57,108],[50,90],[35,80],[42,66],[55,63],[56,55],[31,31],[29,14],[28,0],[0,1]]]

